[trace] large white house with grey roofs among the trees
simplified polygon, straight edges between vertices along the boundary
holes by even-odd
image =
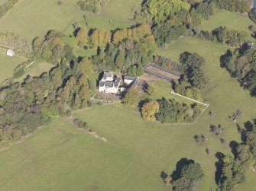
[[[103,78],[99,81],[99,92],[117,94],[121,84],[121,78],[112,72],[104,72]]]

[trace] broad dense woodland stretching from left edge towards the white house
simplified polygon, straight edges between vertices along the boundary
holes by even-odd
[[[0,89],[0,148],[34,132],[52,116],[86,107],[92,94],[89,59],[63,60],[40,77]]]

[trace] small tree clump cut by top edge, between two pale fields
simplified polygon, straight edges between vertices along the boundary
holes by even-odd
[[[106,4],[106,2],[107,0],[83,0],[77,2],[77,5],[83,11],[98,13],[102,10],[102,7]]]

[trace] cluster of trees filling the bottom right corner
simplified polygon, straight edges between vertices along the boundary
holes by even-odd
[[[241,132],[242,142],[231,142],[232,155],[216,154],[216,183],[221,190],[233,190],[239,183],[245,182],[245,173],[256,165],[256,128],[255,123],[245,123]]]

